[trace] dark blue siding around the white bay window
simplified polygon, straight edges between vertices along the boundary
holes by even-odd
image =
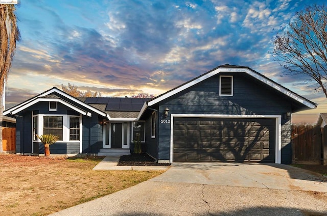
[[[34,114],[80,116],[79,113],[60,102],[57,102],[57,111],[49,111],[49,102],[38,102],[28,107],[24,112],[18,114],[24,116],[24,118],[17,117],[17,153],[32,153],[32,112]],[[102,148],[102,125],[99,123],[99,119],[102,118],[96,113],[92,113],[92,117],[82,117],[82,153],[98,153],[99,149]],[[80,144],[68,143],[66,145],[66,143],[55,143],[50,146],[50,150],[52,154],[75,154],[79,153]],[[44,153],[43,144],[33,144],[33,153]]]

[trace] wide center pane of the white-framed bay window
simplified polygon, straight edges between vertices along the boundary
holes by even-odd
[[[62,140],[62,116],[44,116],[43,134],[54,134]]]

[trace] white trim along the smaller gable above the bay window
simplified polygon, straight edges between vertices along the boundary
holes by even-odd
[[[10,114],[11,112],[14,113],[13,111],[19,109],[19,108],[22,107],[22,106],[25,107],[27,104],[33,102],[33,100],[35,100],[36,98],[40,99],[40,97],[44,97],[44,96],[49,95],[49,94],[54,93],[54,92],[56,92],[56,93],[58,93],[58,94],[60,94],[60,95],[62,95],[62,96],[64,96],[64,97],[68,98],[69,100],[72,100],[72,101],[74,101],[74,102],[76,102],[76,103],[78,103],[78,104],[80,104],[80,105],[86,107],[87,109],[89,109],[89,110],[91,110],[91,111],[93,111],[93,112],[95,112],[95,113],[97,113],[97,114],[99,114],[99,115],[101,115],[101,116],[108,117],[108,115],[107,115],[106,113],[101,112],[101,111],[99,111],[98,109],[95,109],[95,107],[93,107],[93,106],[91,106],[91,105],[88,105],[87,103],[85,103],[85,102],[83,102],[83,101],[81,101],[81,100],[79,100],[79,99],[76,99],[75,97],[73,97],[73,96],[71,96],[71,95],[68,95],[68,94],[62,92],[62,91],[60,91],[60,90],[57,89],[57,88],[52,88],[52,89],[50,89],[50,90],[48,90],[48,91],[43,92],[42,94],[40,94],[40,95],[38,95],[38,96],[36,96],[36,97],[33,97],[33,98],[31,98],[31,99],[29,99],[29,100],[27,100],[27,101],[25,101],[25,102],[22,102],[21,104],[19,104],[19,105],[17,105],[17,106],[13,106],[13,107],[11,107],[11,108],[8,109],[6,112],[4,112],[4,115]],[[50,99],[54,99],[54,98],[43,98],[43,99],[45,99],[44,101],[50,101]],[[34,104],[34,103],[33,103],[33,104]],[[72,104],[71,104],[71,105],[72,105]],[[29,106],[30,106],[30,105],[27,105],[26,107],[29,107]],[[22,109],[22,110],[24,110],[24,109]],[[20,111],[21,111],[21,110],[20,110]],[[84,111],[84,112],[85,112],[85,111]],[[18,112],[15,112],[15,113],[18,113]]]

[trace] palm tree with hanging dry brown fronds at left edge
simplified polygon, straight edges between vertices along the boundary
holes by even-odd
[[[19,41],[19,30],[17,26],[17,18],[15,15],[15,5],[0,5],[0,122],[3,122],[4,111],[4,88],[11,68],[16,42]],[[2,124],[0,125],[0,152],[2,147]]]

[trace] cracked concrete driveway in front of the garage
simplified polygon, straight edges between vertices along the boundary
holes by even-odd
[[[52,215],[327,215],[327,177],[287,165],[174,163]]]

